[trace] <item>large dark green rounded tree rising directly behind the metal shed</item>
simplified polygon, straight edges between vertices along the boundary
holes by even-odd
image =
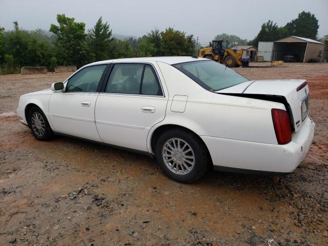
[[[311,39],[318,38],[318,19],[311,12],[302,11],[296,19],[285,25],[289,35],[306,37]]]

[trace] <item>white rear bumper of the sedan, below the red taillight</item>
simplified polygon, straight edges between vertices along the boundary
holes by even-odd
[[[294,132],[286,145],[261,144],[226,138],[201,136],[212,157],[214,169],[244,172],[288,174],[293,172],[308,154],[315,124],[308,117],[302,128]]]

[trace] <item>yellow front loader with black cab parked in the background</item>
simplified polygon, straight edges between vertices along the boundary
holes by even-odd
[[[199,57],[204,57],[226,65],[228,68],[242,66],[243,50],[228,49],[228,40],[213,40],[210,47],[199,50]]]

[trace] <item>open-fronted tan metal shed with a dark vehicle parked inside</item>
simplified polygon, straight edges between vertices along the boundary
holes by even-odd
[[[272,60],[282,60],[284,55],[296,54],[299,62],[309,63],[320,59],[323,44],[304,37],[290,36],[273,42]]]

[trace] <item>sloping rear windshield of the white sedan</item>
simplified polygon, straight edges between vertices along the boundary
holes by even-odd
[[[172,66],[209,91],[219,91],[249,81],[248,78],[213,60],[191,61]]]

